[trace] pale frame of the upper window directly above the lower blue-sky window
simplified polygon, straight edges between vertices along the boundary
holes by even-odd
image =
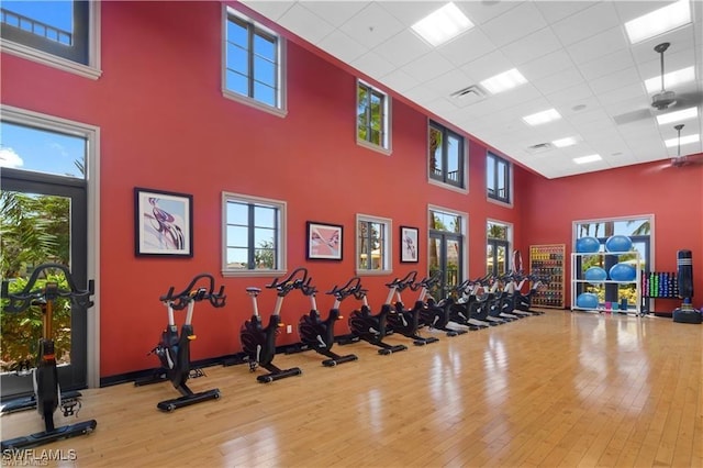
[[[222,5],[222,96],[226,99],[231,99],[233,101],[249,105],[252,108],[271,113],[277,116],[286,116],[288,114],[288,99],[287,99],[287,47],[284,38],[276,33],[274,30],[266,27],[264,24],[254,20],[253,18],[247,16],[241,11],[235,10],[232,7],[227,7],[225,4]],[[244,96],[236,91],[232,91],[227,89],[227,25],[233,19],[233,21],[237,23],[244,23],[247,26],[248,33],[248,43],[247,43],[247,60],[253,59],[252,52],[252,38],[257,33],[261,36],[267,36],[268,38],[276,40],[276,105],[270,105],[266,102],[261,102],[252,96]],[[248,86],[250,88],[254,77],[250,74],[246,76]]]

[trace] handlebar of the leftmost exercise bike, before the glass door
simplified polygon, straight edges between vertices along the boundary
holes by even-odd
[[[66,282],[68,282],[69,289],[58,288],[58,285],[48,281],[44,287],[34,289],[36,281],[40,279],[40,275],[47,269],[62,270],[66,277]],[[49,287],[49,285],[52,286]],[[10,293],[8,280],[3,280],[0,296],[10,301],[4,307],[4,311],[12,313],[22,312],[29,309],[33,301],[54,301],[58,298],[68,298],[75,305],[88,309],[93,304],[90,297],[94,293],[94,281],[92,279],[88,281],[88,289],[78,289],[70,270],[65,265],[42,264],[32,271],[32,276],[30,276],[29,281],[20,292]]]

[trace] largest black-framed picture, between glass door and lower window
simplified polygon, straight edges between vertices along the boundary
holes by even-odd
[[[134,189],[135,255],[193,256],[193,197]]]

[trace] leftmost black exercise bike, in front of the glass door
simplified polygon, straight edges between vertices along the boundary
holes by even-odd
[[[45,271],[48,274],[51,270],[60,270],[64,274],[68,289],[60,288],[58,282],[49,280],[48,278],[45,285],[37,285],[40,276]],[[10,293],[8,288],[8,281],[2,281],[1,294],[3,299],[8,299],[8,304],[4,307],[5,312],[19,313],[33,305],[38,305],[42,311],[43,333],[38,342],[37,365],[33,372],[33,380],[34,401],[37,412],[44,419],[44,431],[27,436],[2,441],[2,452],[34,447],[62,438],[75,437],[93,432],[98,425],[96,420],[68,424],[60,427],[56,427],[54,424],[54,413],[59,405],[62,406],[64,416],[70,416],[77,414],[78,410],[80,410],[80,401],[78,399],[62,400],[52,330],[54,307],[58,299],[66,298],[70,300],[71,305],[75,305],[74,310],[92,307],[93,303],[90,297],[94,293],[93,281],[90,280],[88,282],[87,290],[78,289],[70,270],[66,266],[59,264],[43,264],[34,269],[27,283],[20,292]]]

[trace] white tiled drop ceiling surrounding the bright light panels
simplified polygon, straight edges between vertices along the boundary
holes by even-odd
[[[432,47],[411,26],[446,1],[266,1],[242,3],[487,143],[514,161],[558,178],[678,156],[681,136],[703,135],[703,0],[691,0],[692,23],[631,45],[624,24],[670,1],[455,1],[475,27]],[[680,99],[658,111],[644,81],[695,67],[692,82],[667,86]],[[516,68],[527,82],[484,96],[457,91]],[[685,102],[688,100],[688,102]],[[655,116],[698,105],[698,118],[658,125]],[[556,109],[562,119],[529,126],[522,118]],[[551,142],[576,137],[558,148]],[[701,137],[681,156],[703,153]],[[599,154],[578,165],[573,158]]]

